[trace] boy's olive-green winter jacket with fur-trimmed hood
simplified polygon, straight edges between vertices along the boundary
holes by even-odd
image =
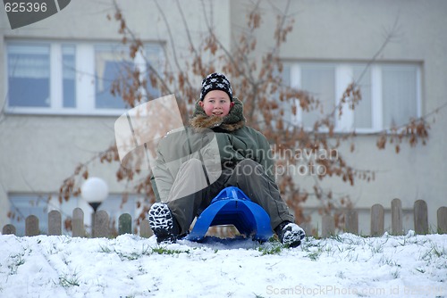
[[[245,125],[243,104],[237,98],[233,101],[232,110],[223,118],[207,116],[196,103],[190,127],[173,131],[160,141],[151,178],[157,201],[167,198],[181,164],[190,158],[205,161],[208,175],[214,172],[215,179],[224,167],[234,167],[249,158],[274,180],[274,161],[266,137]]]

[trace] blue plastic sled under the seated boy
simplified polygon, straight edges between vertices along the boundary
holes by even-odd
[[[215,196],[207,209],[198,216],[194,228],[185,239],[203,240],[208,228],[218,225],[234,225],[241,235],[260,242],[273,236],[267,212],[234,186],[223,188]]]

